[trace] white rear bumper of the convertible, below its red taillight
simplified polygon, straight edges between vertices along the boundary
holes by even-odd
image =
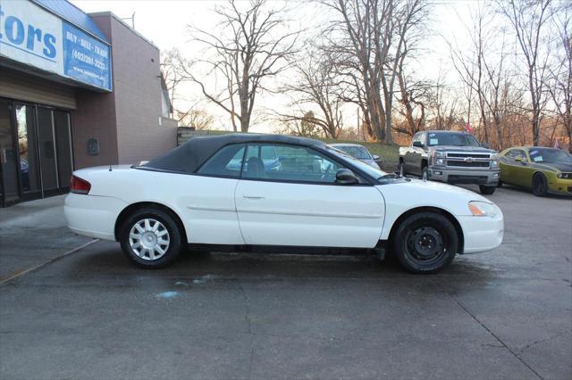
[[[115,221],[127,202],[109,196],[68,194],[63,214],[68,227],[78,235],[115,240]]]

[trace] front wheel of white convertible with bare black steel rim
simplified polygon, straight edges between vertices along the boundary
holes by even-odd
[[[436,273],[455,259],[457,230],[441,214],[420,212],[401,222],[392,236],[392,248],[401,267],[408,272]]]

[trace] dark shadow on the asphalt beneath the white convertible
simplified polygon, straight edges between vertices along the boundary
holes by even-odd
[[[414,275],[400,268],[397,260],[378,260],[374,254],[290,254],[245,252],[185,252],[170,266],[160,269],[138,268],[127,260],[119,246],[100,242],[87,252],[73,255],[66,265],[71,277],[153,277],[218,279],[423,279],[458,278],[486,282],[492,271],[465,257],[435,275]]]

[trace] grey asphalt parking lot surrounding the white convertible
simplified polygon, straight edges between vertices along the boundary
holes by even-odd
[[[4,212],[0,378],[572,378],[572,200],[490,199],[504,243],[433,276],[232,253],[144,271],[105,242],[57,259],[86,240],[11,229]],[[49,262],[5,281],[26,241]]]

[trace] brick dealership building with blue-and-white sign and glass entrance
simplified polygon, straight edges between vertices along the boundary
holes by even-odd
[[[111,12],[0,0],[0,206],[176,145],[159,49]]]

